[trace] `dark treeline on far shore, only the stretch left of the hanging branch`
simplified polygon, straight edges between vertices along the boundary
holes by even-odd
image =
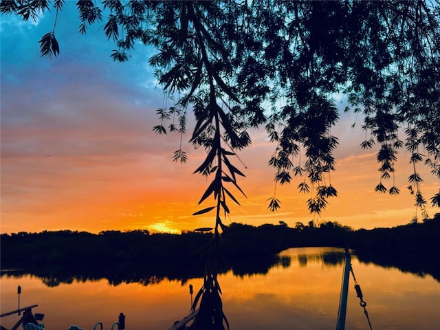
[[[1,234],[2,261],[89,263],[182,259],[199,256],[209,236],[198,232],[150,234],[146,230],[99,234],[62,230]]]

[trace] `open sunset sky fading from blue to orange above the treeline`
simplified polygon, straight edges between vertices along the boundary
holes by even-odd
[[[65,7],[56,26],[61,49],[56,58],[41,57],[38,43],[52,30],[54,13],[38,23],[1,16],[1,232],[179,232],[214,225],[212,213],[191,215],[214,206],[212,199],[197,204],[210,179],[192,174],[204,157],[188,143],[192,118],[183,145],[187,164],[172,162],[179,135],[152,131],[159,124],[156,109],[173,105],[148,66],[153,50],[137,45],[129,62],[115,63],[104,23],[81,35],[74,4],[66,1]],[[309,214],[309,196],[296,190],[300,178],[277,188],[281,210],[267,209],[274,194],[274,168],[267,162],[275,145],[264,130],[252,131],[252,146],[239,153],[245,165],[238,158],[234,163],[246,175],[239,184],[248,198],[237,193],[241,206],[231,201],[225,224],[285,221],[293,227],[314,219],[369,229],[408,223],[415,214],[406,189],[409,155],[401,150],[397,163],[401,194],[377,194],[379,165],[375,149],[359,147],[361,125],[362,118],[344,113],[332,130],[340,140],[331,173],[339,196],[320,217]],[[419,172],[428,199],[438,192],[439,181],[426,168]],[[428,208],[431,217],[436,212]]]

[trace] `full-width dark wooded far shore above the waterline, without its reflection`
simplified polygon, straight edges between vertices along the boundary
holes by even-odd
[[[203,255],[210,232],[181,234],[105,231],[99,234],[62,230],[39,233],[1,234],[2,263],[139,261],[195,258]],[[423,251],[440,252],[440,213],[421,223],[395,228],[352,230],[338,223],[326,222],[319,227],[297,223],[279,225],[243,225],[232,223],[221,234],[219,253],[224,256],[259,256],[277,254],[287,248],[334,246],[386,254]]]

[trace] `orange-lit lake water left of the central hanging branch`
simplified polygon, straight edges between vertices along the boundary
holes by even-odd
[[[201,279],[192,281],[201,283]],[[38,304],[34,312],[45,314],[45,329],[67,329],[78,325],[93,329],[100,321],[110,329],[120,312],[126,315],[127,329],[168,329],[173,322],[188,314],[188,287],[177,281],[141,285],[122,283],[112,286],[107,280],[62,283],[47,287],[31,276],[2,278],[1,313],[17,309],[17,286],[21,285],[21,307]],[[17,322],[14,316],[2,318],[1,325],[9,328]]]

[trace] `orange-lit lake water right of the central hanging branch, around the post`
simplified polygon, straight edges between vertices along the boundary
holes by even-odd
[[[322,248],[290,249],[282,254],[291,257],[288,268],[278,266],[242,281],[221,278],[228,287],[226,314],[235,329],[335,329],[343,264],[325,263],[321,253]],[[366,265],[355,256],[351,261],[373,329],[436,329],[440,324],[440,283],[431,276]],[[369,329],[353,286],[351,276],[346,329]]]

